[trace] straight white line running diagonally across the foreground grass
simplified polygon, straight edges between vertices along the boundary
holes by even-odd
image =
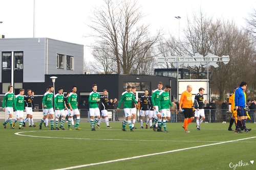
[[[211,145],[229,143],[229,142],[240,141],[240,140],[246,140],[246,139],[252,139],[252,138],[256,138],[256,136],[254,136],[254,137],[248,137],[248,138],[243,138],[243,139],[237,139],[237,140],[229,140],[229,141],[224,141],[224,142],[219,142],[219,143],[205,144],[205,145],[200,145],[200,146],[197,146],[197,147],[190,147],[190,148],[183,148],[183,149],[172,150],[172,151],[166,151],[166,152],[159,152],[159,153],[155,153],[155,154],[147,154],[147,155],[134,156],[134,157],[130,157],[130,158],[122,158],[122,159],[115,159],[115,160],[104,161],[104,162],[98,162],[98,163],[90,163],[90,164],[84,164],[84,165],[78,165],[78,166],[71,166],[71,167],[60,168],[60,169],[54,169],[54,170],[75,169],[75,168],[81,168],[81,167],[87,167],[87,166],[93,166],[93,165],[100,165],[100,164],[106,164],[106,163],[112,163],[112,162],[119,162],[119,161],[125,161],[125,160],[130,160],[130,159],[143,158],[143,157],[147,157],[147,156],[155,156],[155,155],[160,155],[160,154],[168,154],[168,153],[172,153],[172,152],[179,152],[179,151],[185,151],[185,150],[190,150],[190,149],[196,149],[196,148],[202,148],[202,147],[209,147],[209,146],[211,146]]]

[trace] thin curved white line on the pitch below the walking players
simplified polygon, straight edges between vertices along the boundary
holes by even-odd
[[[40,138],[52,138],[52,139],[79,139],[79,140],[118,140],[118,141],[151,141],[151,142],[223,142],[223,141],[199,141],[199,140],[145,140],[145,139],[93,139],[93,138],[75,138],[75,137],[51,137],[51,136],[33,136],[33,135],[23,135],[22,133],[28,132],[57,132],[57,131],[26,131],[26,132],[16,132],[15,135],[28,136],[28,137],[40,137]],[[233,141],[237,142],[237,141]],[[255,141],[244,141],[243,143],[255,143]]]

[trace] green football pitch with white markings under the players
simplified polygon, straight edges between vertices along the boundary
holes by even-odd
[[[39,130],[36,125],[0,128],[0,169],[256,169],[255,124],[248,123],[252,130],[242,134],[221,123],[203,123],[198,131],[193,122],[191,133],[184,133],[181,123],[167,123],[169,133],[130,132],[128,126],[123,132],[120,122],[110,123],[112,129],[101,123],[96,131],[90,123],[80,123],[80,131]]]

